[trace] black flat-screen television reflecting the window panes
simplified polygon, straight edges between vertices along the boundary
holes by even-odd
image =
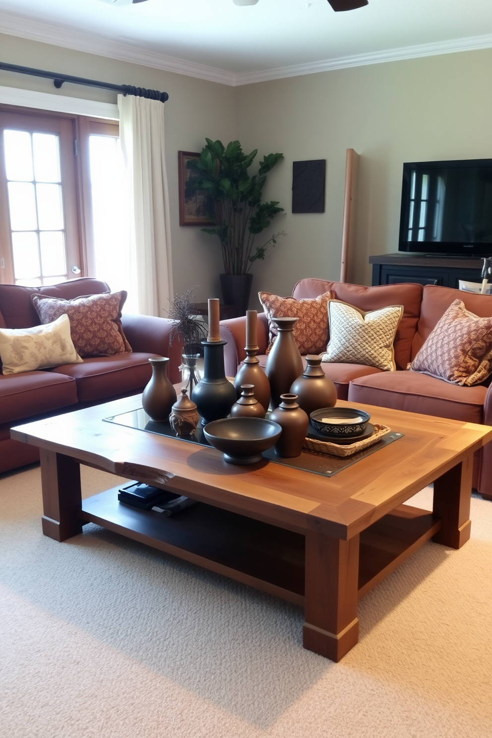
[[[403,164],[398,251],[492,255],[492,159]]]

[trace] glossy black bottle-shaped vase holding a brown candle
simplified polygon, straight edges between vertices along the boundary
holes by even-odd
[[[205,425],[226,418],[238,396],[234,385],[226,379],[224,346],[226,341],[202,341],[204,347],[204,378],[195,384],[191,399],[195,402]]]

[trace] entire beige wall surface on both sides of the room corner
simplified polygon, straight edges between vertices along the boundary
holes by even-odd
[[[199,151],[204,138],[238,138],[259,156],[282,151],[266,195],[285,215],[272,255],[253,266],[254,292],[290,294],[301,277],[339,277],[345,152],[360,159],[355,250],[349,278],[370,283],[369,255],[398,249],[404,161],[492,157],[492,49],[322,72],[236,89],[172,72],[0,35],[1,60],[55,72],[166,90],[166,155],[172,213],[175,292],[199,285],[219,294],[221,258],[215,239],[179,227],[179,150]],[[56,92],[49,80],[0,72],[0,85]],[[64,85],[59,94],[116,102],[116,95]],[[326,159],[326,210],[291,211],[292,162]],[[257,237],[261,244],[261,234]],[[252,307],[256,307],[252,299]]]

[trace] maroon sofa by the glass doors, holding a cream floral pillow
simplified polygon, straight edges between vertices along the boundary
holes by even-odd
[[[49,287],[0,285],[0,328],[39,325],[31,294],[71,300],[108,292],[100,280],[84,277]],[[181,343],[170,345],[171,323],[148,315],[122,315],[122,328],[132,353],[84,359],[52,369],[19,374],[0,373],[0,473],[37,461],[38,449],[10,438],[10,428],[38,418],[89,407],[142,392],[150,379],[150,356],[169,356],[171,382],[181,380]]]

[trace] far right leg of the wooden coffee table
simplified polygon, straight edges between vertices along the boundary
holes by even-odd
[[[436,543],[461,548],[470,537],[473,468],[474,458],[471,454],[434,482],[432,512],[441,519],[440,531],[432,537]]]

